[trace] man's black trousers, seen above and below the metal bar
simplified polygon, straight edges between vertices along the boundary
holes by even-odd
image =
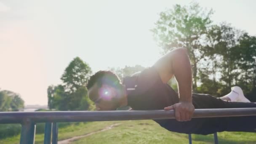
[[[193,93],[193,104],[196,109],[220,109],[220,108],[251,108],[256,104],[245,102],[222,101],[209,94]],[[192,118],[187,122],[177,120],[155,120],[163,128],[179,133],[211,134],[221,131],[256,132],[256,116],[246,117],[212,117]]]

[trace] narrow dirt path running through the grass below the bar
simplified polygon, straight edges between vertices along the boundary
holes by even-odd
[[[84,138],[84,137],[86,137],[86,136],[91,136],[91,135],[93,135],[93,134],[95,134],[95,133],[100,133],[100,132],[102,132],[102,131],[110,130],[111,128],[113,128],[113,127],[115,127],[115,126],[117,126],[117,125],[120,125],[120,123],[116,123],[116,124],[110,125],[110,126],[104,128],[104,129],[101,129],[101,130],[99,130],[99,131],[93,131],[93,132],[91,132],[91,133],[87,133],[86,135],[83,135],[83,136],[74,136],[74,137],[69,138],[69,139],[64,139],[64,140],[62,140],[62,141],[58,141],[58,144],[70,144],[72,141],[75,141],[75,140],[77,140],[77,139]]]

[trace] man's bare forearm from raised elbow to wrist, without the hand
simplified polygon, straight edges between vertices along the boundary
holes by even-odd
[[[178,82],[180,101],[192,101],[191,64],[185,49],[173,57],[172,69]]]

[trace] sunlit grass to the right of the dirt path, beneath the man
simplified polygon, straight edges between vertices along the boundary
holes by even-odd
[[[187,144],[188,135],[165,130],[152,120],[123,121],[118,127],[74,141],[74,144]],[[255,144],[256,133],[218,133],[220,144]],[[192,134],[193,144],[213,144],[213,134]]]

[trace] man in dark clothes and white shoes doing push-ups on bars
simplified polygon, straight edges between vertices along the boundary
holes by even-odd
[[[178,82],[178,93],[167,84],[173,76]],[[123,84],[110,71],[96,72],[88,81],[87,88],[88,96],[95,102],[97,110],[116,110],[127,105],[133,110],[174,109],[176,120],[155,120],[169,131],[210,134],[218,131],[255,132],[256,128],[254,116],[191,119],[195,108],[244,108],[256,107],[256,104],[224,101],[241,97],[239,88],[221,99],[208,94],[192,95],[191,65],[185,48],[175,49],[152,67],[125,77]]]

